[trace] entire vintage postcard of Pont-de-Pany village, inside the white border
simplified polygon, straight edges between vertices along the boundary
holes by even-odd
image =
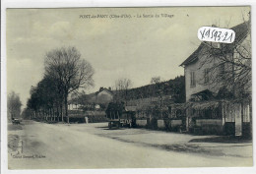
[[[6,10],[8,168],[251,167],[251,7]]]

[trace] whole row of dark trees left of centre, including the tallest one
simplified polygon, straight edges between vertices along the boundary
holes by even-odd
[[[94,86],[94,69],[75,47],[53,49],[44,57],[44,76],[31,88],[25,112],[30,118],[69,123],[68,96],[82,87]],[[66,119],[64,119],[66,118]]]

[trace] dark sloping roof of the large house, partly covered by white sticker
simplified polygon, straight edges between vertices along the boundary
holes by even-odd
[[[248,31],[249,31],[248,26],[249,26],[249,22],[244,22],[242,24],[239,24],[239,25],[231,28],[235,32],[235,39],[232,43],[229,43],[229,44],[223,43],[226,45],[227,52],[231,51],[237,44],[239,44],[242,40],[245,39],[245,37],[247,36]],[[205,44],[205,41],[202,42],[199,45],[199,47],[184,62],[182,62],[180,64],[180,66],[186,66],[186,65],[196,62],[198,60],[198,57],[201,54],[201,50],[203,48],[208,48],[207,44]]]

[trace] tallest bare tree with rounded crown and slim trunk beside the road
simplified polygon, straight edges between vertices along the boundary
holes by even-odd
[[[57,87],[62,91],[65,114],[68,117],[68,95],[80,87],[94,86],[94,69],[91,64],[81,58],[75,47],[61,47],[46,53],[45,74],[56,80]]]

